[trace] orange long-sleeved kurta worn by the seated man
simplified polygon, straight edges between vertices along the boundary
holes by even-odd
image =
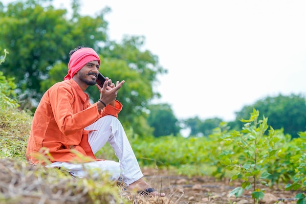
[[[90,131],[84,128],[105,115],[118,117],[121,110],[116,100],[115,107],[107,105],[98,112],[97,104],[90,104],[87,93],[73,79],[56,83],[44,93],[34,113],[26,159],[37,163],[33,153],[42,147],[48,149],[51,162],[76,158],[71,149],[96,159],[88,143]]]

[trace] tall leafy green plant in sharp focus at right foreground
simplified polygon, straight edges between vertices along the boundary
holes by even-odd
[[[278,152],[274,149],[274,130],[271,128],[269,134],[265,136],[264,133],[268,129],[267,118],[263,116],[262,120],[258,120],[258,116],[259,111],[254,109],[248,120],[241,119],[241,122],[245,123],[243,129],[229,136],[235,144],[233,146],[235,152],[223,153],[224,157],[227,156],[227,169],[238,171],[231,180],[243,181],[241,187],[232,190],[229,196],[239,197],[244,189],[253,188],[254,203],[258,203],[264,196],[264,189],[260,188],[260,185],[268,185],[267,178],[270,174],[265,164],[269,163],[269,158]]]

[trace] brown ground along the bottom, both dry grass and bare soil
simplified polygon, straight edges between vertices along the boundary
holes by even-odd
[[[123,200],[116,197],[121,192],[125,201],[133,204],[252,204],[251,191],[245,191],[242,196],[229,197],[229,193],[240,186],[240,182],[230,182],[228,179],[216,181],[207,176],[176,176],[173,172],[144,168],[143,173],[154,188],[166,193],[164,198],[140,196],[114,188],[114,186],[95,182],[94,188],[101,189],[99,193],[92,186],[81,183],[87,180],[64,177],[55,172],[41,172],[41,176],[31,165],[16,162],[11,159],[0,159],[0,203],[1,204],[99,204],[118,203]],[[54,174],[56,173],[56,175]],[[42,177],[44,175],[44,177]],[[78,183],[77,185],[76,182]],[[88,181],[87,181],[88,182]],[[98,184],[97,184],[98,183]],[[101,185],[99,185],[99,183]],[[292,204],[297,192],[285,191],[279,186],[266,188],[265,196],[260,203]],[[98,201],[97,199],[100,199]]]

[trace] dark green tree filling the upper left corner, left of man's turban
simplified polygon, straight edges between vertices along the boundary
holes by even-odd
[[[3,63],[4,75],[14,76],[22,93],[40,99],[42,81],[56,63],[68,63],[71,49],[77,45],[97,49],[98,42],[106,41],[103,14],[67,20],[67,11],[55,9],[51,0],[8,4],[0,10],[0,49],[12,53]]]

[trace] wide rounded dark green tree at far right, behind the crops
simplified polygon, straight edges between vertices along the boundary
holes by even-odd
[[[243,124],[241,118],[247,118],[256,109],[261,117],[265,116],[269,124],[275,129],[284,129],[285,134],[298,137],[299,132],[304,132],[306,127],[306,100],[302,95],[291,94],[284,96],[279,94],[276,97],[266,97],[258,100],[251,106],[244,106],[236,113],[236,121],[231,123],[241,129]],[[233,127],[233,126],[232,126]]]

